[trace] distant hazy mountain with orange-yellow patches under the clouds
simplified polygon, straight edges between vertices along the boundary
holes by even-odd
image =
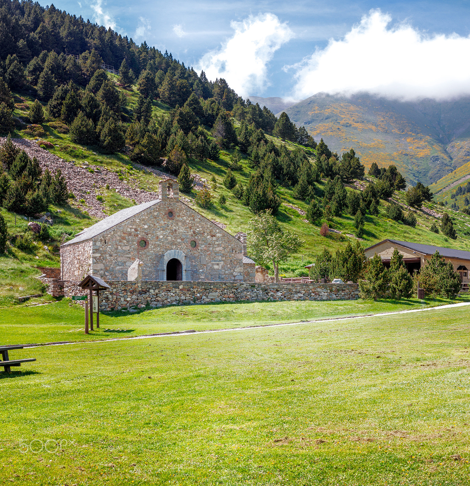
[[[366,167],[395,164],[413,185],[434,183],[465,164],[463,172],[470,171],[470,97],[400,102],[317,93],[277,116],[281,111],[331,150],[354,148]]]

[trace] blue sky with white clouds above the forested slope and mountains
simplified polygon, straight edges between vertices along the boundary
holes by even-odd
[[[421,86],[419,80],[426,65],[435,72],[445,65],[460,69],[459,59],[467,63],[470,1],[60,0],[54,5],[137,43],[145,39],[186,66],[204,67],[210,77],[226,77],[244,96],[300,99],[329,87],[352,92],[363,86],[405,98],[419,96],[421,88],[423,95],[446,97],[470,86],[467,71],[457,78],[447,73],[434,84]],[[374,67],[383,57],[393,60],[398,72],[386,63]],[[417,57],[425,62],[415,68]],[[356,66],[361,73],[351,72]],[[345,79],[350,76],[355,82]]]

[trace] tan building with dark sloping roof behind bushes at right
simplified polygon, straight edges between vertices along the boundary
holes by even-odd
[[[445,248],[443,246],[432,246],[421,243],[401,242],[397,240],[383,240],[366,248],[365,253],[367,258],[372,258],[375,253],[382,259],[386,267],[390,266],[390,259],[392,258],[393,250],[397,248],[403,255],[403,261],[409,273],[426,265],[427,260],[436,251],[439,252],[441,258],[444,258],[446,263],[449,261],[453,264],[453,269],[460,275],[462,280],[462,289],[469,288],[469,271],[470,271],[470,251],[454,250],[453,248]]]

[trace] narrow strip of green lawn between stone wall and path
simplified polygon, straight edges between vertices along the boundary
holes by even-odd
[[[51,300],[49,300],[51,301]],[[463,299],[458,299],[461,302]],[[84,310],[69,299],[35,306],[42,298],[17,306],[5,306],[0,313],[0,344],[31,344],[58,341],[91,341],[133,337],[157,332],[211,330],[310,321],[332,317],[396,312],[448,304],[447,299],[337,300],[330,302],[253,302],[167,306],[136,313],[100,314],[100,328],[84,333]],[[96,325],[96,319],[95,319]]]

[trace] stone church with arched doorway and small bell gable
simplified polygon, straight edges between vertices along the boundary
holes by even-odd
[[[230,235],[180,201],[172,179],[159,183],[156,201],[122,209],[64,243],[61,278],[127,280],[135,260],[142,280],[255,280],[246,235]]]

